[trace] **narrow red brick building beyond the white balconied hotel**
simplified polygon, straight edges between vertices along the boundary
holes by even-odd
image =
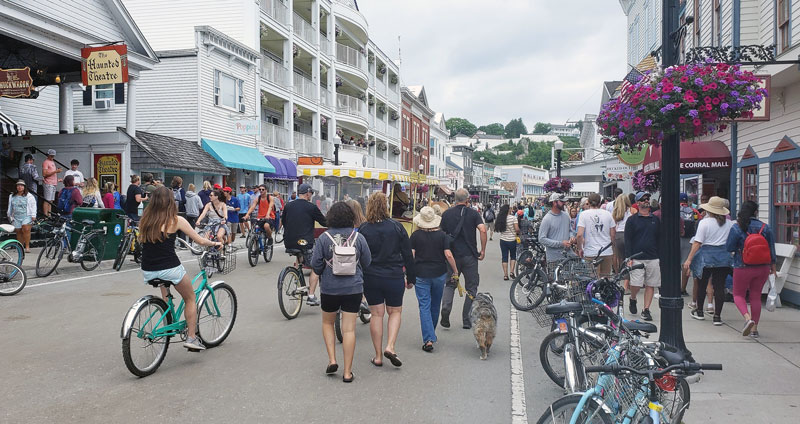
[[[400,169],[430,174],[430,124],[434,112],[428,107],[425,88],[403,87],[400,116]]]

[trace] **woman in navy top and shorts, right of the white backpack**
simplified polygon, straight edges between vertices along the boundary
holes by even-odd
[[[358,224],[356,221],[363,218],[361,205],[352,199],[346,203],[354,209],[354,225]],[[395,343],[400,332],[403,295],[405,289],[410,289],[416,282],[411,242],[406,229],[389,217],[388,200],[382,192],[369,197],[366,222],[358,227],[358,232],[367,241],[372,256],[372,262],[364,268],[364,297],[372,313],[369,330],[375,347],[375,356],[370,362],[376,367],[383,365],[382,353],[392,365],[399,367],[403,363],[397,356]],[[389,319],[386,348],[383,348],[383,316],[386,312]]]

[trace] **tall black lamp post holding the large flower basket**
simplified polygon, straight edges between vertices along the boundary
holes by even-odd
[[[661,51],[664,68],[678,62],[678,45],[682,35],[678,31],[678,0],[662,3]],[[681,297],[680,219],[678,217],[678,192],[680,191],[680,136],[671,134],[661,146],[661,332],[659,340],[669,343],[691,355],[683,340],[683,298]]]

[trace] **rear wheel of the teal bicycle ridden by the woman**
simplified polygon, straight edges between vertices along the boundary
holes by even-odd
[[[167,313],[167,304],[156,297],[148,299],[128,314],[134,314],[133,324],[122,339],[122,358],[128,371],[139,377],[147,377],[156,372],[169,348],[169,337],[153,336],[156,323],[166,314],[159,327],[170,325],[172,315]]]

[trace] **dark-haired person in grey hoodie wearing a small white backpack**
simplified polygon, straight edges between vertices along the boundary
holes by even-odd
[[[342,381],[345,383],[351,383],[355,379],[353,355],[356,348],[356,316],[361,308],[361,296],[364,292],[363,270],[372,262],[367,241],[353,228],[354,218],[355,215],[350,206],[344,202],[334,203],[325,219],[328,230],[320,235],[314,244],[314,251],[311,255],[311,268],[320,276],[322,338],[328,353],[328,366],[325,373],[333,374],[339,369],[336,362],[336,336],[333,326],[336,321],[336,313],[341,311],[344,356]],[[355,248],[357,261],[352,275],[335,275],[333,273],[334,246]],[[344,274],[349,274],[349,272]]]

